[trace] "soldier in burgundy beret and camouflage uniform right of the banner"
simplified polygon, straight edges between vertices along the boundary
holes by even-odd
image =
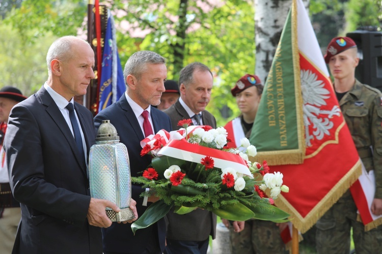
[[[354,72],[358,65],[357,46],[348,37],[334,38],[325,62],[334,77],[341,111],[366,171],[374,170],[376,189],[371,212],[382,214],[382,94],[361,84]],[[335,169],[334,169],[335,170]],[[357,254],[382,253],[382,225],[365,232],[357,221],[357,207],[347,192],[316,224],[318,253],[349,253],[350,228]]]

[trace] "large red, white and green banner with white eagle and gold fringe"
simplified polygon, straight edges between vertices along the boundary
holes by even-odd
[[[272,62],[272,66],[275,66],[274,76],[267,78],[252,129],[253,135],[261,137],[254,138],[253,145],[257,146],[256,142],[261,146],[273,143],[290,145],[299,144],[297,140],[303,141],[305,149],[302,164],[288,162],[282,165],[283,163],[278,164],[276,160],[274,164],[270,164],[265,154],[264,159],[268,165],[272,165],[271,172],[279,171],[284,175],[283,184],[289,186],[289,193],[279,195],[275,200],[276,205],[291,214],[294,227],[305,233],[358,179],[361,175],[361,161],[301,0],[292,1],[276,52]],[[289,82],[291,76],[293,82]],[[285,93],[284,96],[281,94],[282,91],[291,89],[295,93]],[[272,91],[276,91],[273,97],[270,93]],[[274,98],[280,99],[276,103],[272,100]],[[293,106],[298,110],[289,110],[282,104],[291,98]],[[271,103],[275,105],[269,108]],[[259,112],[265,114],[265,121],[258,117],[261,116]],[[294,112],[296,113],[293,115]],[[288,117],[302,121],[288,122],[285,120]],[[267,136],[267,119],[271,119],[271,123],[276,126],[285,125],[285,129],[280,129],[280,135]],[[290,128],[294,122],[302,122],[302,128]],[[265,133],[260,135],[259,131]],[[252,143],[252,139],[250,140]],[[260,148],[259,151],[261,152]],[[284,156],[285,161],[293,154],[285,156],[286,151],[271,147],[264,151],[274,155],[276,159],[279,155]]]

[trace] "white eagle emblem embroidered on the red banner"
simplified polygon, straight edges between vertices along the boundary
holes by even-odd
[[[312,145],[312,140],[323,139],[324,135],[330,135],[329,130],[333,128],[334,123],[330,120],[334,115],[340,116],[340,108],[335,105],[332,110],[321,110],[321,106],[326,105],[325,99],[328,99],[330,92],[326,89],[322,80],[317,80],[316,74],[310,70],[301,70],[301,89],[303,93],[303,111],[306,145]],[[322,117],[325,115],[326,117]],[[309,133],[309,126],[313,133]]]

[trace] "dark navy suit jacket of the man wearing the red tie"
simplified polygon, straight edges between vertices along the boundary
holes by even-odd
[[[171,131],[170,118],[154,107],[151,107],[151,119],[155,133],[161,129]],[[118,102],[96,115],[95,126],[97,129],[102,120],[110,120],[117,129],[120,142],[126,145],[131,176],[142,176],[142,171],[151,163],[151,155],[143,157],[140,155],[142,150],[140,142],[145,137],[137,117],[135,117],[126,100],[125,94],[122,95]],[[139,197],[145,189],[133,184],[131,187],[131,198],[137,201],[138,216],[141,216],[147,209],[147,206],[142,205],[143,198]],[[110,228],[102,230],[102,237],[104,251],[121,253],[162,252],[165,248],[166,224],[164,219],[161,219],[156,224],[146,229],[140,229],[133,235],[130,224],[113,223]]]

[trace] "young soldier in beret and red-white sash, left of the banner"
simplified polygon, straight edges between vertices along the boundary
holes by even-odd
[[[224,128],[232,142],[228,147],[240,146],[240,139],[249,138],[260,103],[263,85],[259,77],[247,74],[241,77],[232,88],[231,93],[236,97],[241,116],[228,122]],[[230,229],[232,253],[277,254],[285,252],[285,244],[280,236],[279,224],[272,221],[250,219],[245,221],[231,221],[223,219],[223,223]],[[286,224],[280,224],[285,228]],[[241,231],[242,230],[242,231]],[[241,232],[240,232],[241,231]]]

